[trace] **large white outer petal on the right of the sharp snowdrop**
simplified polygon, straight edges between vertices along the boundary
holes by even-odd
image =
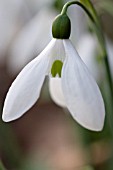
[[[66,60],[62,89],[74,119],[87,129],[103,128],[105,109],[100,90],[69,40],[64,40]]]

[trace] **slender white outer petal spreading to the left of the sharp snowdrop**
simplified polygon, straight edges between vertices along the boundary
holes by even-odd
[[[11,121],[22,116],[37,101],[48,71],[53,39],[45,50],[20,72],[12,83],[3,108],[2,119]]]

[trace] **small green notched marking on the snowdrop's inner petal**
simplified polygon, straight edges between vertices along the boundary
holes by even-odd
[[[62,71],[62,66],[63,63],[60,60],[56,60],[51,68],[51,74],[53,77],[56,77],[56,75],[59,75],[59,77],[61,77],[61,71]]]

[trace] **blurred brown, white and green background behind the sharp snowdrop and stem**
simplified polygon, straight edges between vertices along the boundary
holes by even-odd
[[[0,116],[19,71],[52,39],[51,26],[66,0],[0,0]],[[113,75],[113,1],[92,1],[102,22]],[[55,105],[48,77],[40,100],[20,119],[0,118],[0,170],[113,170],[113,101],[90,22],[77,6],[68,9],[71,40],[99,84],[106,102],[102,132],[84,129]]]

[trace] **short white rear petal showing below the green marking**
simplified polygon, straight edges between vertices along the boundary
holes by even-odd
[[[50,78],[49,90],[53,101],[61,107],[66,107],[62,86],[61,86],[61,78],[58,77]]]

